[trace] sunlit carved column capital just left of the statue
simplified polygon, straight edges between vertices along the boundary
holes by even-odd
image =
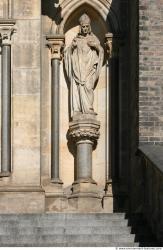
[[[64,35],[47,35],[46,40],[48,40],[48,47],[51,50],[52,59],[62,59],[63,48],[65,44]]]

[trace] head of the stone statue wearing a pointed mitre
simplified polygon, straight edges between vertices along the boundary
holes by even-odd
[[[79,23],[80,23],[80,33],[83,36],[86,36],[87,34],[91,33],[91,19],[87,14],[83,14],[79,18]]]

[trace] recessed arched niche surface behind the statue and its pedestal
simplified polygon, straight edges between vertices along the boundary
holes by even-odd
[[[89,3],[85,2],[80,4],[73,12],[69,12],[69,15],[65,13],[66,20],[63,20],[64,26],[62,27],[63,34],[65,35],[65,47],[68,47],[73,38],[77,36],[79,32],[79,18],[82,14],[86,13],[91,19],[92,32],[98,37],[101,42],[101,46],[105,51],[105,34],[112,32],[112,28],[107,19],[107,15],[104,17]],[[64,16],[63,16],[64,19]],[[62,23],[62,25],[63,25]],[[61,25],[61,26],[62,26]],[[61,27],[60,27],[61,28]],[[60,29],[61,30],[61,29]],[[100,138],[96,150],[93,152],[93,179],[101,187],[101,191],[104,190],[106,182],[106,168],[107,168],[107,140],[108,140],[108,122],[107,122],[107,107],[108,106],[108,79],[107,79],[107,67],[106,58],[103,63],[103,67],[100,73],[99,81],[97,83],[96,89],[94,90],[94,110],[97,112],[97,120],[101,123],[100,128]],[[66,186],[71,185],[74,180],[74,159],[67,146],[67,140],[64,135],[66,135],[69,127],[69,109],[68,109],[68,96],[69,91],[67,88],[69,83],[67,82],[66,75],[64,73],[64,67],[61,65],[61,138],[60,138],[60,152],[61,152],[61,173],[62,180]]]

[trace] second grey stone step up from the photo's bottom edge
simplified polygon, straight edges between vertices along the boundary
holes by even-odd
[[[107,235],[107,234],[130,234],[131,228],[130,227],[119,227],[119,226],[112,226],[112,227],[92,227],[92,226],[67,226],[67,227],[22,227],[22,226],[10,226],[3,225],[0,227],[0,235],[12,235],[12,234],[19,234],[19,235],[31,235],[31,234],[39,234],[39,235],[58,235],[58,234],[65,234],[65,235],[85,235],[85,234],[100,234],[100,235]]]

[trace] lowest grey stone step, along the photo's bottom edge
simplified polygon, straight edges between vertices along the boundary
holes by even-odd
[[[134,235],[47,235],[47,236],[36,236],[36,235],[15,235],[15,236],[0,236],[1,246],[2,244],[56,244],[56,243],[134,243]]]

